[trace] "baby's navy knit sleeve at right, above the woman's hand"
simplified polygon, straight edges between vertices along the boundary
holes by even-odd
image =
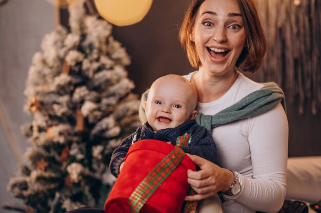
[[[192,134],[191,143],[188,147],[182,147],[183,151],[203,157],[215,164],[218,163],[217,149],[213,137],[204,127],[197,125]]]

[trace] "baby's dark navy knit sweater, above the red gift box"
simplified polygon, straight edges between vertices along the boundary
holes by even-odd
[[[151,126],[146,122],[138,127],[135,133],[126,137],[121,145],[116,148],[112,154],[110,161],[110,172],[115,177],[119,174],[119,167],[126,157],[129,147],[138,140],[157,139],[165,142],[170,141],[172,145],[176,145],[176,138],[185,134],[191,134],[188,147],[182,147],[185,153],[198,155],[213,163],[218,163],[216,146],[212,135],[204,127],[196,124],[194,120],[187,121],[177,127],[162,129],[153,132]]]

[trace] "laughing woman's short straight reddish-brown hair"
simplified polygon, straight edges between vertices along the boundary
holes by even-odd
[[[180,43],[187,51],[188,60],[193,67],[202,65],[195,43],[190,40],[190,33],[195,23],[195,14],[203,2],[205,0],[192,0],[179,30]],[[268,41],[254,2],[252,0],[238,0],[238,5],[244,19],[247,46],[237,59],[236,66],[244,71],[254,73],[262,64],[267,53]]]

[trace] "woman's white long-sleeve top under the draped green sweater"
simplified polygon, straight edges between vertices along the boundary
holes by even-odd
[[[189,81],[193,73],[184,76]],[[262,88],[242,73],[218,100],[197,103],[197,111],[213,115]],[[288,121],[281,104],[263,114],[213,128],[219,166],[238,173],[241,191],[225,196],[225,213],[276,212],[286,195]]]

